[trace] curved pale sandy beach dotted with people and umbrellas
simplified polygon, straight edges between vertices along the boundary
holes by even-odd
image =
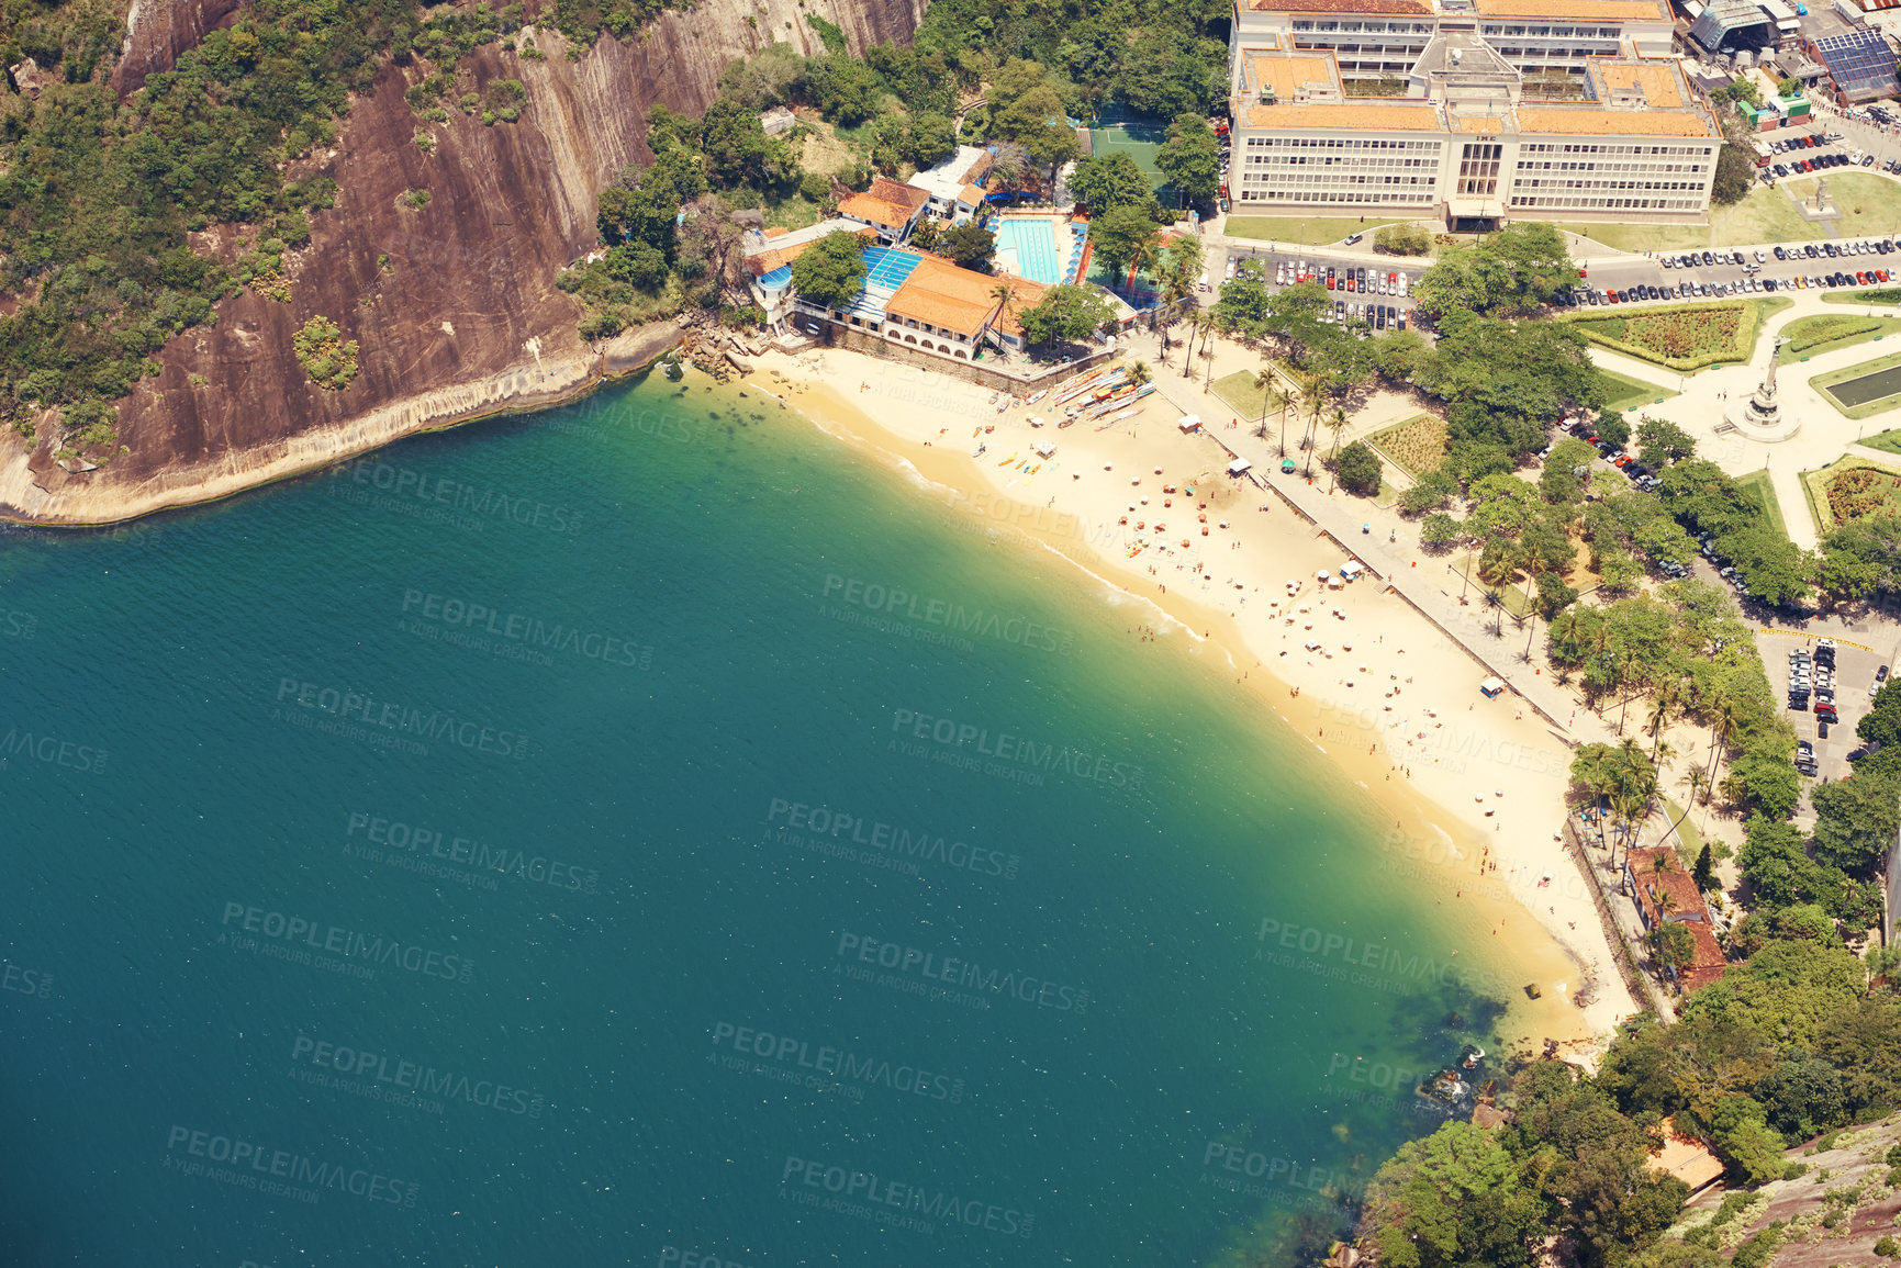
[[[1059,428],[1053,399],[998,413],[987,388],[846,350],[766,354],[745,386],[975,523],[1152,605],[1160,637],[1220,658],[1390,812],[1369,882],[1452,905],[1460,939],[1540,992],[1511,992],[1509,1040],[1557,1040],[1591,1059],[1637,1011],[1587,880],[1557,840],[1566,743],[1511,694],[1483,698],[1473,660],[1378,580],[1321,584],[1348,555],[1270,490],[1228,477],[1219,445],[1182,433],[1162,394],[1135,418]],[[1034,454],[1038,441],[1055,454]]]

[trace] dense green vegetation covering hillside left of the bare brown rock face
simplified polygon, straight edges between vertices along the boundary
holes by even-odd
[[[336,137],[352,91],[422,15],[405,0],[259,0],[120,106],[105,78],[118,19],[87,4],[0,17],[0,55],[32,55],[38,97],[0,97],[0,413],[32,435],[61,411],[63,447],[106,456],[114,401],[163,342],[238,285],[287,298],[281,259],[310,238],[329,181],[283,163]],[[226,268],[188,234],[243,226]]]

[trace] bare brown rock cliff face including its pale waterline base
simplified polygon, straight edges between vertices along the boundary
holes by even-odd
[[[232,0],[141,0],[124,80],[143,82],[222,21]],[[595,196],[624,163],[650,158],[648,105],[700,112],[720,67],[783,40],[821,51],[804,23],[817,11],[854,48],[907,40],[924,0],[705,0],[665,13],[639,38],[603,38],[580,61],[536,32],[546,61],[511,44],[464,61],[475,84],[521,80],[517,124],[483,127],[451,112],[428,125],[403,91],[420,67],[390,67],[355,101],[336,148],[295,175],[336,179],[336,207],[312,217],[312,241],[287,260],[291,300],[240,295],[217,323],[186,331],[160,354],[163,373],[122,401],[120,439],[131,452],[67,473],[48,443],[0,447],[0,513],[40,523],[105,523],[181,506],[323,466],[407,432],[532,409],[586,386],[603,355],[574,333],[578,306],[555,274],[595,241]],[[751,19],[751,21],[749,21]],[[131,89],[127,89],[131,91]],[[428,190],[414,209],[409,190]],[[359,344],[361,371],[342,392],[316,388],[291,336],[312,316]],[[654,335],[624,336],[627,346]]]

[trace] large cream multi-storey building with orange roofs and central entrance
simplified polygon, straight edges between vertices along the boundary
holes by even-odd
[[[1241,0],[1236,213],[1699,221],[1722,135],[1660,0]]]

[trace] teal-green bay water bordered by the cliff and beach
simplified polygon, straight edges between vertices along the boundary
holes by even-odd
[[[0,538],[0,1260],[1323,1247],[1509,951],[971,528],[656,376]]]

